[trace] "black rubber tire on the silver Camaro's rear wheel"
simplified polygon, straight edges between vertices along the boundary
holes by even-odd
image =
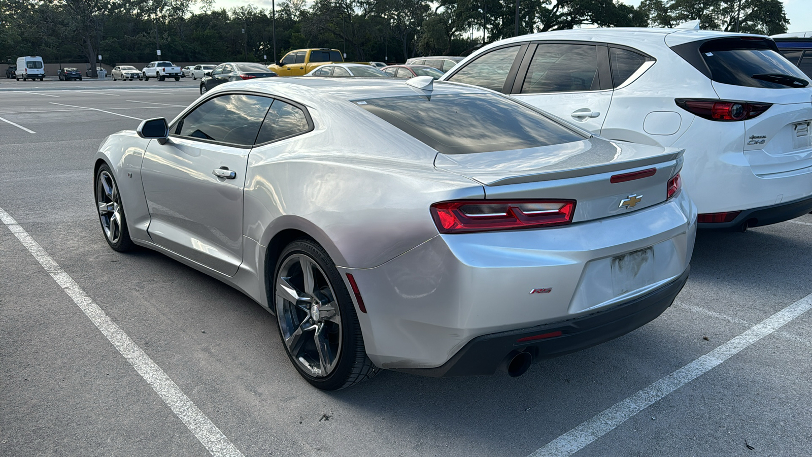
[[[296,265],[299,265],[301,268],[302,263],[299,263],[301,259],[305,259],[317,267],[317,269],[311,269],[313,276],[312,282],[314,284],[313,290],[317,292],[313,292],[311,301],[303,303],[314,303],[316,299],[319,300],[319,307],[325,304],[325,306],[330,307],[332,304],[337,303],[339,311],[338,316],[335,316],[335,311],[330,311],[334,316],[332,316],[332,318],[326,318],[323,321],[318,321],[322,323],[322,327],[320,327],[319,330],[312,330],[314,341],[317,339],[315,335],[323,331],[322,335],[324,335],[325,342],[329,341],[331,345],[338,345],[337,349],[335,349],[335,346],[330,347],[330,351],[333,352],[333,350],[335,350],[337,355],[335,355],[333,367],[328,368],[328,370],[331,371],[327,372],[324,376],[314,376],[313,372],[308,372],[303,368],[302,363],[296,359],[296,355],[291,354],[291,350],[288,348],[283,334],[283,326],[286,329],[292,329],[294,326],[296,328],[301,327],[305,320],[316,322],[313,320],[313,316],[307,314],[306,311],[302,311],[301,307],[297,306],[297,304],[301,303],[293,303],[290,300],[280,300],[280,298],[278,298],[279,294],[276,293],[280,275],[283,274],[283,267],[287,268],[287,265],[292,265],[291,268],[287,268],[284,272],[285,274],[292,275],[292,272],[296,271]],[[299,272],[301,272],[301,269]],[[297,282],[295,276],[285,277],[287,278],[287,284],[296,283],[297,287],[298,284],[300,284]],[[279,255],[279,261],[274,268],[271,288],[274,290],[274,292],[270,294],[271,306],[276,313],[277,328],[279,329],[279,337],[282,340],[282,346],[285,349],[288,359],[291,360],[291,363],[293,363],[293,366],[296,368],[296,371],[299,372],[306,381],[321,390],[340,390],[351,385],[356,385],[361,381],[366,381],[378,374],[380,368],[376,367],[366,355],[364,337],[361,335],[361,324],[358,323],[355,305],[352,302],[349,291],[344,285],[341,273],[335,268],[335,263],[330,259],[330,255],[327,254],[322,246],[308,237],[301,237],[287,245],[282,251],[282,254]],[[335,296],[330,297],[330,294],[335,294]],[[304,306],[312,307],[313,305],[305,304]],[[287,310],[287,313],[284,312],[285,310]],[[296,312],[291,312],[291,310]],[[325,311],[322,311],[322,315],[325,315]],[[316,313],[315,316],[318,316],[318,313]],[[335,327],[335,324],[333,324],[334,327],[326,326],[326,324],[330,324],[336,318],[340,321],[339,326]],[[299,321],[294,321],[296,319]],[[328,320],[330,322],[328,322]],[[311,330],[306,331],[309,332]],[[305,337],[303,331],[300,332],[300,335],[302,335],[300,338],[304,339],[304,342],[297,345],[300,347],[297,355],[302,357],[305,352],[308,351],[307,346],[313,344],[313,341],[306,339],[309,338],[311,333],[308,333],[307,337]],[[319,354],[322,354],[321,350],[319,350]],[[319,367],[321,367],[321,365],[322,363],[319,363]],[[310,366],[313,367],[313,365]],[[319,369],[322,370],[322,372],[326,371],[323,368]],[[313,371],[313,368],[310,368],[310,370]]]

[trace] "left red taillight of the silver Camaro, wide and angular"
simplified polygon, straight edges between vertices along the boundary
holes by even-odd
[[[575,200],[458,200],[431,205],[440,233],[540,228],[572,222]]]

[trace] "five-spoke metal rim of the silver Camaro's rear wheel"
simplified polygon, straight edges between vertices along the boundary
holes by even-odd
[[[328,376],[341,355],[341,316],[330,281],[307,255],[291,255],[275,281],[276,316],[292,359],[313,377]]]

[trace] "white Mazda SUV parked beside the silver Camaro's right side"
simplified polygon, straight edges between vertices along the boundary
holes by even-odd
[[[535,33],[485,46],[441,80],[497,90],[614,141],[685,148],[699,228],[745,230],[812,211],[812,87],[770,37]]]

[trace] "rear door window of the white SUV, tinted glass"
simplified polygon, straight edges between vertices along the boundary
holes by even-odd
[[[538,45],[527,69],[522,94],[599,89],[598,47]]]

